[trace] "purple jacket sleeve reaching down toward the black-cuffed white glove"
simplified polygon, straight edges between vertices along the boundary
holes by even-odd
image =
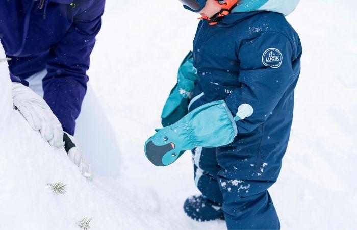
[[[75,15],[63,39],[51,47],[46,63],[48,73],[43,79],[43,98],[58,117],[63,130],[71,135],[86,94],[89,56],[104,12],[104,0],[90,2],[89,7]]]

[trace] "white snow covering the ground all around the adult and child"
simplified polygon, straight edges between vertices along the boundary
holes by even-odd
[[[269,190],[283,229],[355,227],[356,7],[353,0],[302,0],[288,17],[304,51],[290,145]],[[122,172],[87,183],[63,150],[13,112],[0,135],[1,230],[78,229],[84,217],[93,218],[91,229],[225,229],[224,221],[197,223],[183,212],[185,199],[199,193],[189,152],[163,168],[143,152],[192,49],[196,17],[179,1],[159,11],[151,1],[107,1],[89,75],[117,132]],[[68,192],[54,195],[47,186],[54,182]]]

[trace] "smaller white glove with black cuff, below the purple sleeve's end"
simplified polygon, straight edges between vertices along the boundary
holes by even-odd
[[[90,164],[82,158],[81,151],[79,149],[79,145],[77,140],[66,132],[63,135],[64,140],[64,149],[66,150],[69,159],[78,166],[80,172],[84,177],[86,177],[89,181],[93,180],[93,172]]]

